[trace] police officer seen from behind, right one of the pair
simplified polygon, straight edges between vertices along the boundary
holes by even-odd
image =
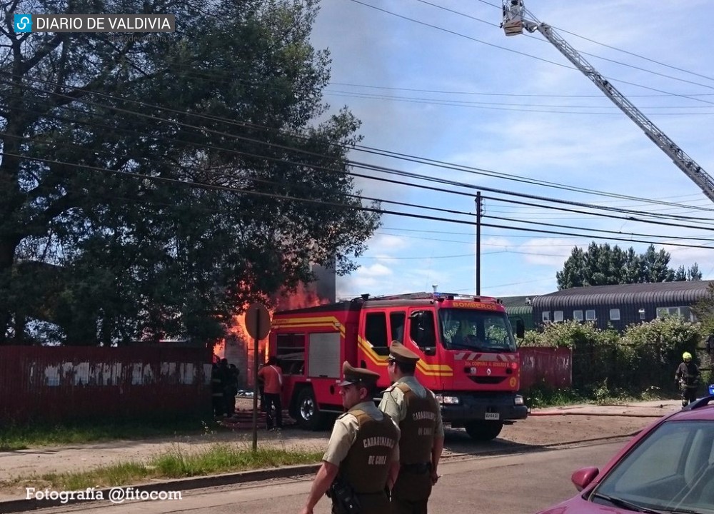
[[[382,396],[379,410],[401,430],[400,468],[392,488],[392,514],[426,514],[444,442],[441,408],[431,390],[414,377],[419,356],[392,341],[388,372],[393,385]]]

